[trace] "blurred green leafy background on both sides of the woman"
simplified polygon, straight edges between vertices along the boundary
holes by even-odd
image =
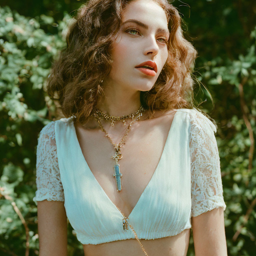
[[[0,255],[39,255],[36,146],[59,119],[45,93],[78,0],[1,0]],[[195,99],[215,119],[228,255],[256,255],[256,1],[173,1],[198,51]],[[199,86],[200,85],[200,86]],[[68,221],[68,220],[67,220]],[[68,222],[68,255],[84,255]],[[191,232],[188,256],[194,256]]]

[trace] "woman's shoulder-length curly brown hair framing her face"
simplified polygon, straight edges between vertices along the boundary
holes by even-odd
[[[58,101],[65,117],[75,116],[83,124],[104,96],[101,82],[113,62],[109,49],[121,31],[124,9],[131,1],[89,0],[78,9],[66,36],[67,47],[53,63],[47,80],[47,93]],[[193,105],[191,76],[197,51],[183,36],[178,10],[168,0],[153,1],[167,17],[168,57],[152,89],[140,92],[141,104],[149,113],[155,109],[197,108]]]

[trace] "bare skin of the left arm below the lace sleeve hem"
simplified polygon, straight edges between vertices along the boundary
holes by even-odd
[[[64,202],[37,203],[39,256],[67,255],[67,215]]]

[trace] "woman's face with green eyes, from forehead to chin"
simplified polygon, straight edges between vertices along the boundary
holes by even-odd
[[[113,64],[108,80],[125,90],[149,91],[168,56],[165,11],[152,0],[135,0],[124,9],[122,22],[121,33],[110,51]],[[141,71],[144,69],[136,68],[145,61],[155,62],[157,72],[149,71],[151,75],[147,75]]]

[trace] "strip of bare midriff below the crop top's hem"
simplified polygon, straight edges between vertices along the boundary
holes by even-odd
[[[176,236],[153,240],[140,239],[149,256],[186,256],[190,230],[185,229]],[[85,256],[143,256],[145,253],[136,239],[118,240],[103,244],[83,244]]]

